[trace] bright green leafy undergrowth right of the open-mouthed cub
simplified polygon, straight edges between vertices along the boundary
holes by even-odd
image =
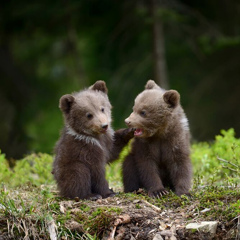
[[[222,130],[211,143],[201,142],[192,145],[194,175],[200,176],[203,183],[239,184],[240,139],[234,129]]]

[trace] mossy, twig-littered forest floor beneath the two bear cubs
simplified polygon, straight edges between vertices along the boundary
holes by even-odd
[[[204,187],[190,198],[170,192],[151,199],[144,191],[97,201],[58,197],[52,186],[2,190],[3,239],[239,239],[240,192]],[[189,223],[217,221],[215,233],[187,230]]]

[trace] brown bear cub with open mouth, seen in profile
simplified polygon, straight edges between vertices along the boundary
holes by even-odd
[[[159,198],[169,187],[177,195],[188,195],[190,133],[179,93],[165,91],[149,80],[125,122],[135,128],[135,137],[123,163],[124,191],[144,188],[150,197]]]

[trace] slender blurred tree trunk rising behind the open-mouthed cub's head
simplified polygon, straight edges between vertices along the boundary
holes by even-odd
[[[152,36],[153,36],[153,68],[154,80],[165,89],[169,88],[165,59],[163,23],[159,14],[159,1],[151,0]]]

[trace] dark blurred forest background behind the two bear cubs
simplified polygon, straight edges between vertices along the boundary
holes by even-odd
[[[193,139],[240,133],[239,0],[4,1],[0,149],[51,153],[59,98],[105,80],[114,128],[148,79],[176,89]]]

